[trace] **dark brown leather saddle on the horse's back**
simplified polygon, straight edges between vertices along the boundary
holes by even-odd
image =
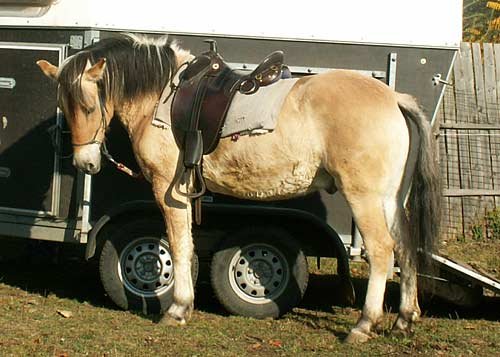
[[[224,62],[215,41],[179,75],[171,106],[172,131],[183,152],[184,166],[200,165],[215,150],[227,111],[236,92],[251,95],[281,78],[283,52],[269,54],[252,72],[237,71]]]

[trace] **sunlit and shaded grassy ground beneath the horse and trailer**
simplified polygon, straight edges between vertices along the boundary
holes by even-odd
[[[365,264],[352,265],[356,306],[342,306],[334,264],[311,264],[301,306],[279,320],[228,316],[207,284],[197,288],[196,311],[186,327],[164,326],[158,316],[118,310],[88,264],[17,258],[0,263],[0,356],[495,356],[500,354],[500,300],[480,309],[444,303],[424,306],[412,339],[387,334],[396,315],[398,285],[388,284],[386,331],[360,346],[342,343],[360,316]],[[340,306],[339,306],[340,305]],[[65,318],[58,311],[70,311]]]

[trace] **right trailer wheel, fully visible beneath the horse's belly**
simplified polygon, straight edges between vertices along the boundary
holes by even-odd
[[[245,228],[214,254],[211,281],[232,314],[279,317],[304,296],[309,272],[297,241],[277,227]]]

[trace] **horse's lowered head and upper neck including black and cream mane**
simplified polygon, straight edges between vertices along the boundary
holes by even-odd
[[[156,101],[177,64],[189,56],[189,51],[170,44],[167,37],[123,34],[86,47],[60,67],[38,61],[43,73],[58,83],[59,107],[71,130],[74,165],[89,174],[99,172],[101,146],[115,111],[127,125],[142,119],[131,114],[130,108],[150,110],[145,109],[145,100],[147,105],[151,98]]]

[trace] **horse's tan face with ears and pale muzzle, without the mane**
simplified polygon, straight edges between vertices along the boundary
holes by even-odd
[[[82,68],[76,70],[75,64],[69,63],[61,68],[45,60],[37,64],[47,77],[58,83],[59,108],[71,131],[73,165],[88,174],[98,173],[101,169],[101,145],[113,115],[111,104],[105,102],[100,85],[106,60],[101,58],[94,65],[86,61]]]

